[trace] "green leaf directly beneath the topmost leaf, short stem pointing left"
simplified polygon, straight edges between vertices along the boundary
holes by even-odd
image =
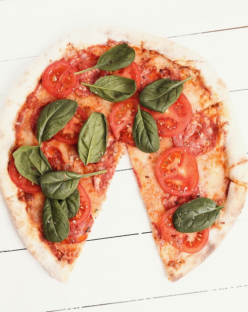
[[[136,91],[135,80],[116,75],[103,76],[93,85],[84,82],[81,84],[88,86],[92,93],[110,102],[124,101]]]

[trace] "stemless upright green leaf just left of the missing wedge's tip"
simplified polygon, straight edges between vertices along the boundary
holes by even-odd
[[[102,113],[92,113],[84,123],[78,138],[78,154],[85,165],[98,162],[105,154],[108,126]]]

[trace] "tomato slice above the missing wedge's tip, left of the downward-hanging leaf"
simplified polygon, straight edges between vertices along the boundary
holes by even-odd
[[[116,103],[110,114],[110,126],[115,137],[130,146],[135,146],[132,125],[138,105],[138,98],[130,97],[123,102]]]

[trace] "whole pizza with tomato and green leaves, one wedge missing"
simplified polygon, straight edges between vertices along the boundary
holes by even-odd
[[[58,281],[68,281],[124,154],[172,282],[216,250],[244,206],[248,160],[228,88],[168,39],[71,32],[21,76],[0,121],[3,198]]]

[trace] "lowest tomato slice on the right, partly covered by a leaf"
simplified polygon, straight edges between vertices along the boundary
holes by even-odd
[[[187,253],[196,253],[206,245],[209,228],[195,233],[178,232],[173,225],[173,214],[178,207],[166,211],[160,220],[160,230],[163,238],[175,248]]]

